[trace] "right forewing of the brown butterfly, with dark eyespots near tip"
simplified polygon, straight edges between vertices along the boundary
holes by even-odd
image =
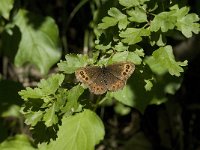
[[[108,65],[106,69],[118,79],[126,82],[135,70],[135,65],[132,62],[120,62]]]

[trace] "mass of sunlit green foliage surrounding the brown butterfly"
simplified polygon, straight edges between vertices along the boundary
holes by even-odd
[[[29,63],[41,74],[47,74],[61,58],[55,20],[21,8],[12,13],[12,0],[2,0],[1,4],[1,54],[13,59],[17,67]],[[91,21],[95,35],[92,56],[67,54],[65,60],[57,64],[60,73],[19,92],[24,100],[20,112],[31,131],[39,135],[44,127],[51,132],[47,139],[35,139],[38,149],[94,149],[105,135],[103,122],[95,112],[97,107],[115,100],[144,112],[149,104],[165,102],[165,95],[174,94],[180,87],[187,60],[176,60],[167,39],[173,38],[173,34],[182,34],[185,38],[198,34],[198,15],[174,1],[166,2],[161,8],[157,1],[119,0],[116,6],[107,5],[106,13],[101,10],[104,5],[106,1],[94,11]],[[120,61],[133,62],[136,70],[127,85],[117,92],[95,96],[92,101],[88,89],[72,80],[73,73],[80,67]],[[120,105],[116,107],[118,112],[124,108]],[[0,148],[14,149],[21,140],[25,143],[20,144],[21,149],[35,149],[24,135],[12,140],[3,142]]]

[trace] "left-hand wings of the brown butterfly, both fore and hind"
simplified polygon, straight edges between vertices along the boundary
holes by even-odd
[[[92,93],[98,95],[107,91],[102,68],[97,66],[83,67],[78,69],[75,75],[77,80],[88,86]]]

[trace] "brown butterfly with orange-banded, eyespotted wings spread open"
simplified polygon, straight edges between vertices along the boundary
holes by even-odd
[[[135,65],[132,62],[119,62],[103,67],[82,67],[75,71],[75,75],[90,92],[100,95],[122,89],[134,70]]]

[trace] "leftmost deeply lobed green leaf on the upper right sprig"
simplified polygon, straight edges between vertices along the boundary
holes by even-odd
[[[108,14],[111,17],[104,17],[102,19],[103,23],[98,24],[99,29],[107,29],[111,26],[115,26],[118,23],[118,28],[121,30],[125,29],[129,24],[127,16],[124,15],[119,9],[115,7],[110,8]]]

